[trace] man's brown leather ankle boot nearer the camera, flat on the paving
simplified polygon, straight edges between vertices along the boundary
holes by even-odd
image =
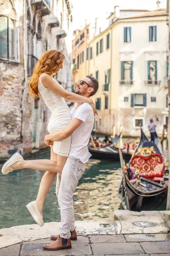
[[[58,237],[56,241],[54,241],[52,244],[45,244],[43,246],[44,250],[62,250],[62,249],[71,249],[71,240],[65,239],[62,237]]]

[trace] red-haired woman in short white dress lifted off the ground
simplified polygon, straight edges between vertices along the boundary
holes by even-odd
[[[51,117],[48,122],[48,132],[51,134],[55,131],[64,129],[71,121],[71,112],[65,99],[71,102],[87,102],[93,109],[94,114],[96,108],[94,102],[75,93],[70,93],[53,78],[62,68],[65,56],[58,50],[48,50],[44,52],[34,67],[33,74],[29,81],[29,91],[34,98],[38,98],[39,94],[43,101],[51,111]],[[90,87],[90,86],[89,86]],[[92,87],[93,88],[93,87]],[[17,169],[38,169],[46,171],[40,183],[40,189],[36,201],[32,201],[26,207],[31,213],[34,220],[40,226],[43,226],[42,209],[45,197],[57,173],[61,173],[68,157],[71,137],[54,143],[51,143],[50,160],[23,160],[19,153],[15,153],[2,168],[2,173],[7,174]]]

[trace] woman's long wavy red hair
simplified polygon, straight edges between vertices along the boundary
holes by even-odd
[[[28,86],[29,90],[28,93],[33,96],[34,98],[38,98],[38,81],[39,77],[42,73],[47,73],[51,76],[54,73],[54,70],[57,69],[64,59],[64,54],[58,50],[48,50],[44,52],[44,54],[40,57],[37,61],[33,69],[33,73],[31,78],[29,79]],[[55,74],[54,76],[56,76]]]

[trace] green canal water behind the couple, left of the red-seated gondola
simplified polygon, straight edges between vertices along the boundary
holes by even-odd
[[[41,158],[49,159],[46,153]],[[0,172],[0,228],[34,224],[26,205],[36,199],[44,172],[23,169],[2,175]],[[76,220],[113,219],[119,209],[120,163],[89,160],[85,173],[74,193]],[[55,194],[56,180],[45,200],[44,222],[60,221],[60,209]]]

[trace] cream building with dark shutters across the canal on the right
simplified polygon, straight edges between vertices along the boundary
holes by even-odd
[[[125,136],[139,136],[140,125],[147,132],[152,117],[158,133],[162,132],[168,117],[166,20],[166,9],[148,12],[115,6],[108,27],[89,40],[93,54],[84,65],[99,80],[93,97],[99,110],[96,131],[112,134],[116,126],[118,133],[122,125]],[[73,58],[77,59],[74,52]],[[86,74],[77,70],[76,76]]]

